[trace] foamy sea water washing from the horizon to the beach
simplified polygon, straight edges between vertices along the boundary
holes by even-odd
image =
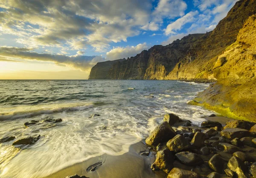
[[[40,134],[23,149],[0,144],[0,177],[42,177],[145,139],[165,113],[200,123],[210,111],[186,105],[208,85],[141,80],[0,80],[0,138]],[[151,98],[154,96],[154,98]],[[99,114],[100,116],[92,116]],[[61,123],[30,120],[61,118]]]

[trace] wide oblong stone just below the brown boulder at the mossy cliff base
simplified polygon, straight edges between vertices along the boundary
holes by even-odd
[[[234,139],[234,138],[243,138],[249,136],[250,132],[245,129],[239,128],[227,128],[221,131],[221,136],[226,136],[227,138]]]

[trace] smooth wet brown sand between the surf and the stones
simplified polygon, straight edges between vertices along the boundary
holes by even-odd
[[[129,148],[129,152],[123,155],[101,155],[90,158],[87,161],[64,168],[46,178],[65,178],[66,176],[78,174],[90,178],[165,178],[167,175],[162,172],[154,172],[150,166],[154,162],[154,154],[140,155],[140,152],[148,147],[140,141]],[[95,163],[102,162],[102,165],[95,171],[87,172],[87,168]]]

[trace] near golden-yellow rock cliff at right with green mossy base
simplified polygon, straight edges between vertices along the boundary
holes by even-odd
[[[248,18],[236,42],[218,56],[213,75],[218,82],[199,93],[193,105],[224,116],[256,121],[256,16]]]

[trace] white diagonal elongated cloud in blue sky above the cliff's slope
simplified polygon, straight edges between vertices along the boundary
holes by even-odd
[[[183,17],[180,17],[179,19],[177,19],[175,22],[169,24],[165,31],[166,35],[169,34],[176,34],[178,30],[180,30],[182,28],[183,25],[185,25],[186,23],[190,23],[193,22],[195,20],[195,15],[198,14],[198,11],[191,11],[189,13],[187,13],[186,15],[184,15]]]

